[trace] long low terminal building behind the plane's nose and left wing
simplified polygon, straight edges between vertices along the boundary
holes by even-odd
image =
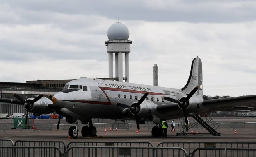
[[[13,93],[18,94],[25,100],[40,94],[47,97],[61,91],[65,84],[71,80],[37,80],[27,81],[26,83],[0,82],[0,98],[16,99]],[[0,102],[0,113],[8,113],[9,115],[13,113],[26,114],[26,110],[23,105]]]

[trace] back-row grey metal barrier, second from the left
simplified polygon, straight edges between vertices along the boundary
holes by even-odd
[[[62,141],[26,141],[17,140],[14,143],[16,147],[57,147],[62,152],[66,151],[66,145]]]

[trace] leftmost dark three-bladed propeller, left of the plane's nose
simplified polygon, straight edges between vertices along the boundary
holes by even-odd
[[[28,111],[32,109],[33,104],[35,102],[37,102],[39,99],[41,99],[43,97],[43,94],[39,95],[38,97],[35,97],[33,100],[24,100],[22,97],[20,97],[18,94],[13,93],[14,97],[16,97],[16,99],[20,100],[20,102],[22,102],[24,104],[24,107],[26,109],[26,121],[25,121],[25,125],[27,125],[27,119],[28,119]]]

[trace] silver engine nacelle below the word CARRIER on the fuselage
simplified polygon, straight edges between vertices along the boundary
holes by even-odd
[[[132,106],[135,106],[137,102],[133,103]],[[147,118],[152,116],[152,111],[156,108],[156,105],[153,102],[146,101],[142,102],[136,111],[131,111],[133,115],[140,118]]]

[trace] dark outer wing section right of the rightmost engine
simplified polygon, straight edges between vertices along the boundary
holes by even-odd
[[[236,106],[246,106],[256,103],[256,95],[240,97],[226,97],[219,99],[203,100],[202,104],[207,112],[233,110]]]

